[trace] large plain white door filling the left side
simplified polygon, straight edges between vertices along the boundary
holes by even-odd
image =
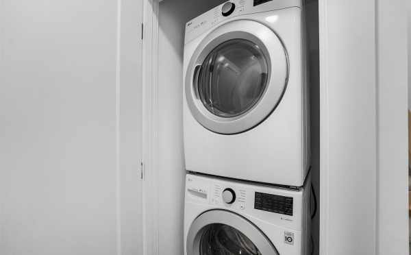
[[[116,68],[117,1],[1,1],[0,254],[142,254],[142,8],[122,2]]]

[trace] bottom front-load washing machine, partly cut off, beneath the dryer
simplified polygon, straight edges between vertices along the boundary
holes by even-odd
[[[309,188],[186,175],[184,254],[310,254]]]

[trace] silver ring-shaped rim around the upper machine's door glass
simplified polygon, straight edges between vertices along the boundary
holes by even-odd
[[[238,29],[237,27],[241,27]],[[250,40],[262,49],[269,65],[268,83],[262,97],[247,112],[236,117],[223,118],[212,114],[199,99],[197,66],[221,43],[236,38]],[[272,62],[275,61],[275,64]],[[288,54],[273,30],[257,21],[240,20],[225,23],[204,38],[192,54],[186,73],[185,93],[192,116],[212,132],[238,134],[255,127],[275,110],[288,82]],[[273,78],[274,77],[274,78]]]

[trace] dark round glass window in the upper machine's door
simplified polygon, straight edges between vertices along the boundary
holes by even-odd
[[[219,117],[244,114],[264,94],[268,64],[260,47],[233,39],[214,48],[201,65],[198,92],[203,105]]]

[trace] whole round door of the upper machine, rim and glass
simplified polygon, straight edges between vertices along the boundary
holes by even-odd
[[[188,64],[186,100],[203,127],[237,134],[271,114],[287,82],[288,56],[275,32],[256,21],[232,21],[197,47]]]

